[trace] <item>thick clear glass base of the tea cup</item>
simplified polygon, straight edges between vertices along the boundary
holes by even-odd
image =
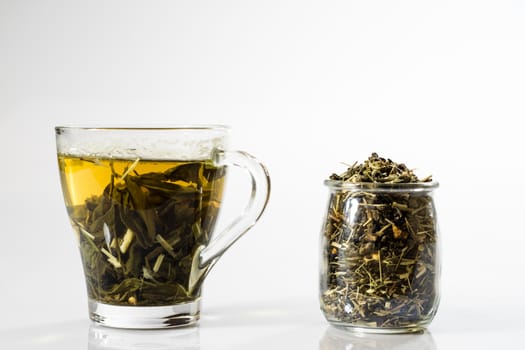
[[[200,315],[200,300],[168,306],[118,306],[89,300],[89,317],[112,328],[162,329],[195,324]]]

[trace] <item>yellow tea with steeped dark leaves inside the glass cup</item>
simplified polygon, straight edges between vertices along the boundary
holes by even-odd
[[[91,299],[153,306],[199,297],[198,253],[219,214],[224,167],[70,155],[58,161]]]

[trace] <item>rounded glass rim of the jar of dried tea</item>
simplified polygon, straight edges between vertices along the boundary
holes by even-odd
[[[334,190],[366,190],[369,192],[405,192],[432,191],[439,187],[437,181],[429,182],[344,182],[342,180],[325,180],[324,184]]]

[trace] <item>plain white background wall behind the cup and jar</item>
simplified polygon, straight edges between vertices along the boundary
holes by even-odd
[[[443,310],[520,303],[524,62],[519,0],[0,0],[0,328],[87,316],[60,124],[227,124],[267,165],[270,204],[204,313],[317,310],[323,180],[373,151],[441,184]]]

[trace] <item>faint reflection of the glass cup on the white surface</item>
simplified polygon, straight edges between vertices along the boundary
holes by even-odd
[[[198,350],[200,349],[199,328],[131,330],[91,324],[88,350],[102,349]]]

